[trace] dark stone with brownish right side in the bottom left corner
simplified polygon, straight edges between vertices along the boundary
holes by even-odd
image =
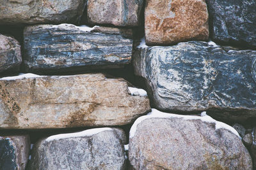
[[[29,136],[0,136],[0,169],[24,170],[28,162]]]

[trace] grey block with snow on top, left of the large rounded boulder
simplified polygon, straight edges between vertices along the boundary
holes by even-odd
[[[124,131],[99,128],[65,136],[51,136],[36,143],[29,169],[125,168]]]

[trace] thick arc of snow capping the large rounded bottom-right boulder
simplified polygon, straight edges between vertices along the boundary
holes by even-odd
[[[176,115],[176,114],[164,113],[164,112],[158,111],[156,109],[152,109],[152,111],[150,113],[148,113],[148,115],[139,117],[134,122],[134,124],[132,125],[131,130],[130,130],[129,138],[132,138],[135,135],[137,125],[140,124],[143,120],[145,120],[147,118],[182,118],[184,120],[202,120],[203,122],[214,123],[215,129],[227,129],[228,131],[236,134],[236,136],[238,136],[241,139],[241,137],[239,136],[236,129],[234,129],[230,125],[227,125],[227,124],[224,124],[223,122],[218,122],[217,120],[214,120],[213,118],[206,115],[205,111],[202,112],[201,115],[202,115],[202,117],[192,116],[192,115]]]

